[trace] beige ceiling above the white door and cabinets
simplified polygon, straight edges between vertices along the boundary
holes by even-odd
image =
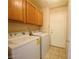
[[[63,6],[66,5],[68,0],[32,0],[35,2],[38,6],[40,7],[58,7],[58,6]]]

